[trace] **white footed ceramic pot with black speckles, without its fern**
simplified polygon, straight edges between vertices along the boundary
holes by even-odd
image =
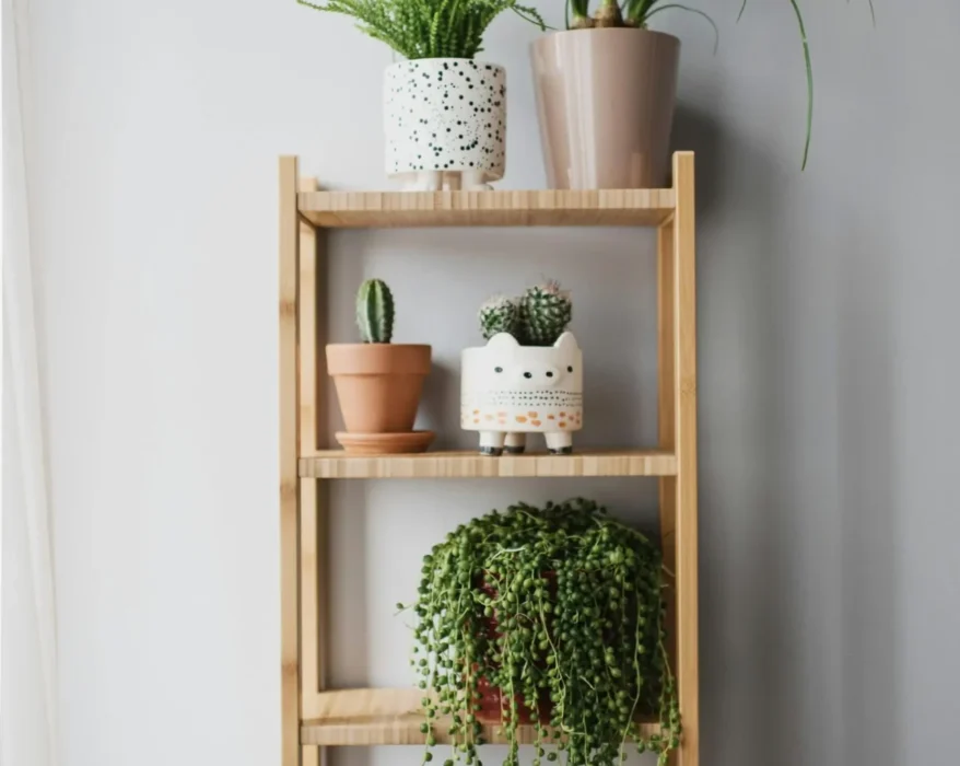
[[[407,188],[489,188],[506,160],[506,71],[468,58],[391,65],[384,129],[387,175]]]

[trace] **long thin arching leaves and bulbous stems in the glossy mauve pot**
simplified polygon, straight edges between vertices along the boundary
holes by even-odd
[[[807,135],[804,140],[803,162],[803,167],[806,169],[807,159],[810,155],[810,136],[813,127],[813,68],[810,62],[810,46],[807,44],[807,28],[804,23],[804,14],[800,12],[799,2],[798,0],[785,1],[791,4],[797,20],[797,31],[800,34],[800,44],[804,48],[804,66],[807,70]],[[876,23],[874,0],[867,0],[867,2],[870,7],[870,18]],[[713,26],[714,35],[717,34],[716,24],[710,15],[696,8],[672,2],[672,0],[602,0],[600,7],[593,15],[590,15],[590,4],[592,0],[566,0],[567,28],[588,30],[606,26],[635,26],[645,30],[649,20],[657,13],[677,9],[703,16]],[[740,21],[745,10],[747,10],[747,0],[742,0],[740,3],[737,21]]]

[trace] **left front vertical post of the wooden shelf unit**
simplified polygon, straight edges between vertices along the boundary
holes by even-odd
[[[295,156],[280,159],[280,736],[281,766],[300,766],[300,221]]]

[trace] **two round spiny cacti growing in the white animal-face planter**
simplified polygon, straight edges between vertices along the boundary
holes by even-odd
[[[491,298],[480,306],[479,318],[485,340],[510,333],[523,346],[552,346],[573,318],[573,302],[551,279],[527,288],[518,298]]]

